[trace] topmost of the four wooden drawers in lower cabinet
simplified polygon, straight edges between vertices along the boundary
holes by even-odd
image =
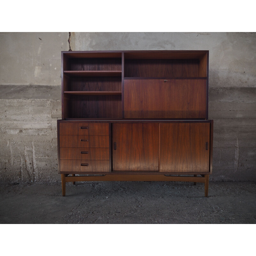
[[[109,124],[60,123],[60,135],[109,135]]]

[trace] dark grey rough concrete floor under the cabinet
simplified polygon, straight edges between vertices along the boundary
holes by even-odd
[[[0,224],[256,224],[256,182],[2,184]]]

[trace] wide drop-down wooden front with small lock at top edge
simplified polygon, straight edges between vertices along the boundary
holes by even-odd
[[[204,79],[126,79],[124,118],[205,118]]]

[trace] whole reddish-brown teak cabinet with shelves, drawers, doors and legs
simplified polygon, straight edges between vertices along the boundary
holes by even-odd
[[[213,120],[208,51],[62,52],[58,166],[66,182],[202,182]]]

